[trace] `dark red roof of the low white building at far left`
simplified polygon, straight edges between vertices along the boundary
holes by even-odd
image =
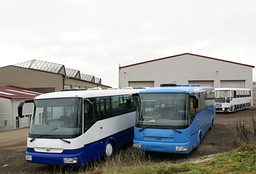
[[[0,86],[0,97],[5,99],[33,99],[43,93],[29,91],[18,86]]]

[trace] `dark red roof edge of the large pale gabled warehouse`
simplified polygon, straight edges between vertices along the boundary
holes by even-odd
[[[143,61],[141,63],[130,64],[130,65],[127,65],[127,66],[119,66],[119,69],[127,68],[127,67],[130,67],[130,66],[135,66],[135,65],[138,65],[138,64],[149,63],[149,62],[152,62],[152,61],[158,61],[158,60],[164,60],[164,59],[167,59],[167,58],[179,57],[181,55],[193,55],[193,56],[208,58],[208,59],[212,59],[212,60],[224,61],[224,62],[227,62],[227,63],[233,63],[233,64],[240,64],[240,65],[243,65],[243,66],[249,66],[251,68],[255,67],[255,66],[248,65],[248,64],[236,63],[236,62],[233,62],[233,61],[221,60],[221,59],[218,59],[218,58],[206,57],[206,56],[203,56],[203,55],[184,53],[184,54],[179,54],[179,55],[172,55],[170,57],[163,57],[163,58],[157,58],[157,59],[154,59],[154,60]]]

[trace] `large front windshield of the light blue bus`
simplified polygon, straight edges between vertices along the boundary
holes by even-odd
[[[190,123],[190,98],[184,93],[139,94],[135,127],[187,128]]]

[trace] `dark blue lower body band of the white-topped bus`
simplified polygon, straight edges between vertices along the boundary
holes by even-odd
[[[124,139],[124,137],[126,137]],[[116,144],[115,148],[127,144],[133,140],[133,127],[112,136],[105,137],[99,141],[84,145],[84,147],[74,150],[63,150],[62,153],[37,152],[34,148],[27,148],[26,155],[32,156],[32,163],[54,164],[54,165],[83,165],[105,155],[107,142],[112,139]],[[36,140],[35,140],[36,141]],[[71,142],[72,143],[72,142]],[[98,149],[98,150],[95,150]],[[77,158],[77,163],[64,164],[63,158]]]

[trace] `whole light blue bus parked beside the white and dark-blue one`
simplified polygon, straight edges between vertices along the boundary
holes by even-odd
[[[133,94],[133,102],[136,150],[190,153],[215,120],[213,87],[163,85]]]

